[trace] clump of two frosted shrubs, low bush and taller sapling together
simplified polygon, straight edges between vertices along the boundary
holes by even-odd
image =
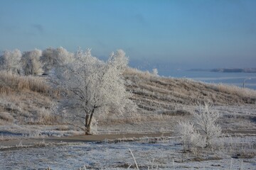
[[[208,104],[198,106],[198,109],[192,114],[193,123],[178,122],[176,127],[184,151],[198,146],[210,147],[212,141],[221,135],[221,128],[216,124],[220,115],[217,111],[211,110]]]

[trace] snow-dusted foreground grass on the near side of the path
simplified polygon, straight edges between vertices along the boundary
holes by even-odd
[[[234,140],[235,138],[233,138]],[[255,149],[255,137],[245,137]],[[247,145],[247,144],[245,144]],[[235,146],[235,145],[233,145]],[[176,138],[137,142],[90,142],[0,151],[0,169],[255,169],[256,158],[236,157],[226,149],[183,153]],[[255,152],[255,151],[254,151]],[[131,166],[132,165],[132,166]]]

